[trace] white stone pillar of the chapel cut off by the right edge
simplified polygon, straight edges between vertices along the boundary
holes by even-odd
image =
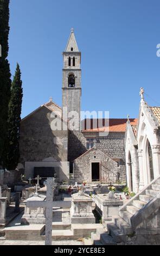
[[[160,145],[152,145],[154,178],[160,175]]]

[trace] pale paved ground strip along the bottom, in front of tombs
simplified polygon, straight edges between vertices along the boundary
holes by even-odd
[[[1,245],[44,245],[44,241],[10,241],[0,240]],[[80,241],[65,240],[65,241],[53,241],[52,245],[83,245]]]

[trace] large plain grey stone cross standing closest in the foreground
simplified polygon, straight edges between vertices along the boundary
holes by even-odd
[[[52,245],[52,221],[53,221],[53,207],[71,208],[69,201],[54,201],[53,202],[53,187],[55,186],[54,178],[47,178],[47,197],[46,201],[30,201],[27,202],[27,207],[43,207],[46,208],[46,231],[45,231],[45,245]]]

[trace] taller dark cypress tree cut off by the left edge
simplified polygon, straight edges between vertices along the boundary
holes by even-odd
[[[0,165],[4,166],[7,132],[8,106],[10,99],[11,74],[8,62],[9,0],[0,0]]]

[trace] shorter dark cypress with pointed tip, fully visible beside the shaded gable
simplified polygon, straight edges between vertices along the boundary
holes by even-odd
[[[22,81],[21,70],[17,63],[14,80],[11,85],[11,97],[9,102],[9,119],[8,119],[8,154],[7,168],[13,170],[17,167],[20,158],[19,139],[22,110]]]

